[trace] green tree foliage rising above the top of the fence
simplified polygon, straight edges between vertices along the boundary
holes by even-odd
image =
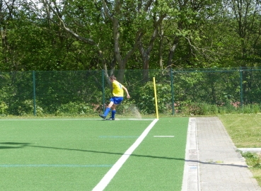
[[[136,48],[139,33],[149,52],[150,69],[168,64],[173,68],[260,66],[257,1],[242,6],[240,11],[248,13],[244,22],[236,20],[240,17],[234,6],[221,1],[121,1],[120,10],[115,10],[115,1],[108,1],[109,15],[118,21],[119,42],[113,37],[113,19],[106,16],[102,1],[61,1],[57,7],[50,4],[52,8],[39,6],[40,1],[34,2],[35,8],[28,1],[16,6],[6,2],[1,5],[1,71],[102,69],[105,64],[117,69],[122,63],[114,62],[115,45],[126,59],[129,50]],[[52,12],[57,10],[57,14]],[[66,29],[57,15],[64,19]],[[157,19],[165,15],[159,25]],[[155,38],[154,32],[158,34]],[[175,40],[177,47],[170,52]],[[168,62],[170,53],[173,57]],[[162,58],[163,66],[159,66]],[[126,68],[143,68],[141,52],[132,53]]]

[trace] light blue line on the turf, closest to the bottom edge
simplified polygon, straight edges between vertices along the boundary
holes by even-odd
[[[0,168],[14,167],[73,167],[73,168],[88,168],[88,167],[112,167],[112,165],[77,165],[77,164],[0,164]]]

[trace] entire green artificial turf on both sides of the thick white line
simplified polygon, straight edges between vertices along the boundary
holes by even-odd
[[[92,190],[151,122],[1,120],[0,190]],[[105,190],[180,190],[187,123],[160,119]]]

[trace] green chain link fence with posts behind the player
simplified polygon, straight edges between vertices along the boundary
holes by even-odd
[[[131,98],[117,115],[213,115],[260,112],[261,68],[114,71]],[[97,116],[112,89],[105,71],[16,71],[0,73],[0,115]],[[126,95],[125,95],[126,96]]]

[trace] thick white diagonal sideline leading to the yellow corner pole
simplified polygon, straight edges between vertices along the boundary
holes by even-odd
[[[144,130],[141,136],[129,147],[129,149],[120,157],[120,159],[110,168],[108,173],[100,180],[100,183],[93,188],[93,191],[101,191],[104,190],[105,187],[110,183],[110,180],[116,175],[117,171],[120,170],[122,165],[127,161],[127,158],[132,154],[132,152],[141,144],[141,141],[146,137],[152,127],[156,124],[158,119],[153,120],[151,124]]]

